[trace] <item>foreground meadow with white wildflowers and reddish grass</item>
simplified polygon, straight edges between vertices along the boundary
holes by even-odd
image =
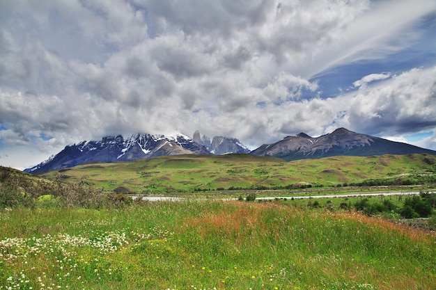
[[[435,289],[434,233],[290,202],[0,210],[0,289]]]

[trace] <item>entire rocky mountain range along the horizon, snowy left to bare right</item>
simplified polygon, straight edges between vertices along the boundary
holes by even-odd
[[[236,138],[215,136],[210,140],[196,131],[193,138],[182,134],[173,136],[134,134],[127,138],[118,135],[104,137],[100,141],[82,141],[66,146],[47,161],[24,171],[38,173],[70,168],[83,163],[132,161],[164,155],[228,153],[274,156],[285,161],[338,155],[374,156],[414,153],[436,155],[436,151],[433,150],[359,134],[345,128],[336,129],[330,134],[316,138],[304,133],[286,136],[276,143],[261,145],[251,152]]]

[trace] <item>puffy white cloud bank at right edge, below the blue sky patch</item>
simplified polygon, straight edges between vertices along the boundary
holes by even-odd
[[[436,67],[413,69],[337,98],[343,127],[381,136],[412,134],[436,125]]]

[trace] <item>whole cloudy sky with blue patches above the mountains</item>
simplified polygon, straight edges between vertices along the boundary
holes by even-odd
[[[0,165],[137,132],[436,150],[436,0],[0,0]]]

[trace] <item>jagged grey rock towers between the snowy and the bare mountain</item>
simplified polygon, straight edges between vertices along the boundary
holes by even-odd
[[[250,150],[245,147],[240,140],[236,138],[227,138],[224,136],[215,136],[212,142],[208,136],[201,136],[197,130],[192,137],[196,143],[205,146],[212,154],[227,154],[227,153],[248,153]]]

